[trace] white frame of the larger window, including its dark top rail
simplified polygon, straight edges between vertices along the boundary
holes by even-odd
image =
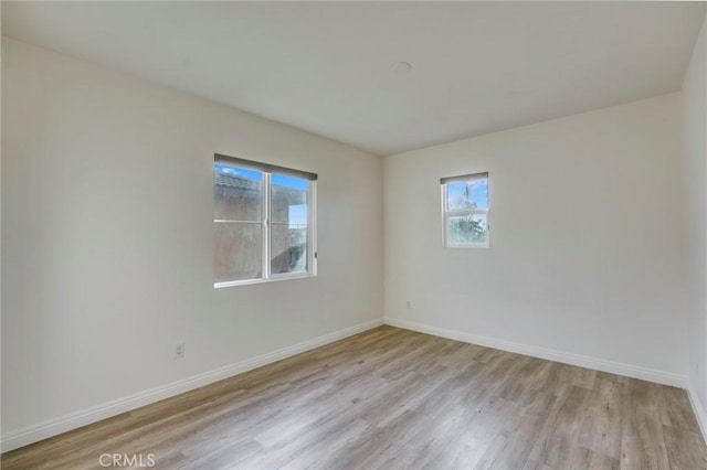
[[[250,160],[226,157],[217,153],[214,163],[221,162],[231,164],[236,168],[255,170],[263,173],[261,184],[262,202],[261,202],[261,223],[262,231],[262,270],[260,278],[226,280],[213,282],[213,287],[219,289],[222,287],[247,286],[251,284],[273,282],[278,280],[305,279],[317,276],[317,175],[300,170],[293,170],[284,167],[276,167],[267,163],[260,163]],[[272,273],[271,260],[271,181],[273,173],[293,175],[307,180],[307,270],[305,273]],[[214,218],[214,224],[223,221]]]

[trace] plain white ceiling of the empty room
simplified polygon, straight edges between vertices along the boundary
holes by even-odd
[[[2,2],[2,33],[390,154],[677,90],[704,8]]]

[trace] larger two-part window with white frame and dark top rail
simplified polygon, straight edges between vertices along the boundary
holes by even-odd
[[[215,156],[214,287],[316,275],[316,180]]]

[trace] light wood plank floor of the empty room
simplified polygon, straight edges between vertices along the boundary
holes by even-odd
[[[679,388],[381,327],[2,456],[3,469],[689,469]],[[146,460],[144,460],[146,461]]]

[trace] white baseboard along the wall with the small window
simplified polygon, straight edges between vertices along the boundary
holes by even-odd
[[[463,341],[465,343],[478,344],[482,346],[494,348],[497,350],[508,351],[517,354],[529,355],[534,357],[545,359],[548,361],[561,362],[563,364],[577,365],[580,367],[593,368],[595,371],[610,372],[616,375],[624,375],[632,378],[641,378],[643,381],[655,382],[674,387],[687,388],[687,377],[677,374],[671,374],[652,368],[641,367],[637,365],[622,364],[619,362],[594,359],[585,355],[572,354],[562,351],[555,351],[545,348],[530,346],[511,341],[498,340],[495,338],[481,337],[477,334],[464,333],[461,331],[447,330],[444,328],[432,327],[429,324],[418,323],[408,320],[386,317],[386,324],[392,327],[404,328],[405,330],[419,331],[421,333],[433,334],[435,337],[449,338],[450,340]]]

